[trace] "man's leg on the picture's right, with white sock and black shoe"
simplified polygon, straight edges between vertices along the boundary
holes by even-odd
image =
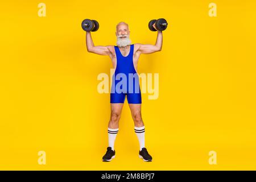
[[[152,157],[148,154],[145,147],[145,126],[141,116],[141,104],[129,104],[129,107],[134,121],[134,131],[139,139],[139,156],[144,161],[150,162]]]

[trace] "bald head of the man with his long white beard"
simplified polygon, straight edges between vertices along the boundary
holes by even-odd
[[[121,23],[117,26],[117,32],[115,32],[117,36],[117,46],[118,47],[126,47],[131,44],[131,40],[129,38],[130,31],[126,24]]]

